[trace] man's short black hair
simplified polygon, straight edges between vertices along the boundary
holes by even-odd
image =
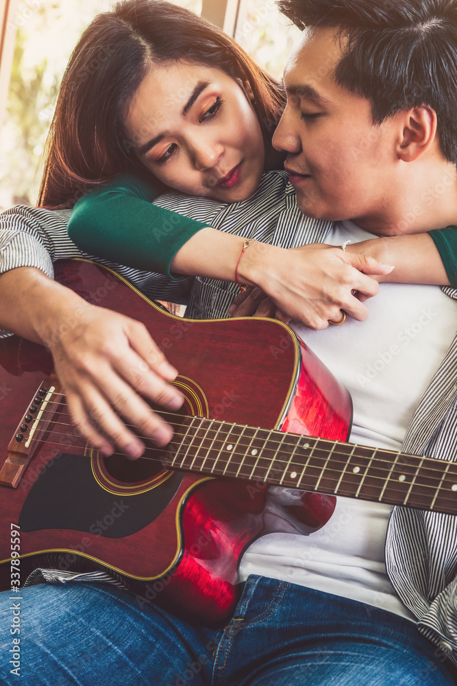
[[[371,102],[373,121],[435,110],[441,150],[457,164],[457,0],[278,0],[301,29],[341,30],[336,83]]]

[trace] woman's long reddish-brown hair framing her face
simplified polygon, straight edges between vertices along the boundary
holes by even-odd
[[[264,139],[271,140],[285,102],[280,84],[193,12],[165,0],[125,0],[95,17],[70,58],[47,140],[40,206],[71,207],[95,185],[141,166],[127,141],[125,115],[149,65],[171,60],[249,82]]]

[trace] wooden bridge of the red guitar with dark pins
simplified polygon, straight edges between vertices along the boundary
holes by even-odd
[[[55,393],[60,393],[60,384],[57,377],[51,375],[38,387],[8,444],[8,457],[0,470],[0,486],[17,488],[21,482],[38,445],[34,437],[37,431],[42,434],[51,422],[54,412],[47,410],[47,405]]]

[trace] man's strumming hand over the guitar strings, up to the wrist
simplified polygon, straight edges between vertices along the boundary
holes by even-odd
[[[145,450],[140,436],[166,445],[173,429],[143,400],[168,410],[181,407],[171,384],[177,375],[146,327],[121,314],[92,305],[79,322],[48,342],[73,423],[103,455],[113,445],[135,459]]]

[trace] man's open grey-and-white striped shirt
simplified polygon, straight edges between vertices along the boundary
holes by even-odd
[[[284,172],[265,174],[249,200],[221,204],[176,194],[157,204],[237,235],[284,248],[323,241],[331,224],[297,209]],[[19,206],[0,218],[0,272],[34,266],[49,276],[52,262],[91,257],[66,235],[68,212]],[[101,260],[97,260],[101,262]],[[169,279],[107,263],[151,298],[187,302],[186,316],[225,316],[236,285],[211,279]],[[443,289],[457,299],[457,290]],[[457,460],[457,337],[423,395],[408,428],[403,451]],[[386,536],[386,568],[395,590],[417,617],[419,630],[457,663],[457,518],[436,512],[393,508]],[[63,580],[68,573],[43,570],[36,578]],[[103,576],[103,575],[102,575]],[[80,575],[87,580],[87,575]],[[93,576],[91,577],[93,579]]]

